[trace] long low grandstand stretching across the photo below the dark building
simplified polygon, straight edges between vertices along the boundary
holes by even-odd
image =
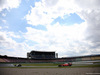
[[[53,59],[28,59],[19,57],[9,57],[0,55],[0,63],[58,63],[58,62],[77,62],[77,61],[99,61],[100,55],[77,56],[66,58],[53,58]]]

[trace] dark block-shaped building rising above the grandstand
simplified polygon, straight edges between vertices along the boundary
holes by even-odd
[[[58,54],[54,51],[31,51],[27,53],[27,58],[29,59],[54,59],[57,58]]]

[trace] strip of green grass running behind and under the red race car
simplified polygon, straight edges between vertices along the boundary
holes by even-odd
[[[57,67],[59,64],[55,63],[31,63],[31,64],[22,64],[22,66],[28,66],[28,67],[19,67],[19,68],[95,68],[95,67],[100,67],[100,64],[97,65],[81,65],[81,66],[66,66],[66,67]],[[36,67],[30,67],[30,66],[36,66]],[[37,67],[38,66],[38,67]],[[47,66],[47,67],[43,67]],[[54,66],[54,67],[48,67],[48,66]]]

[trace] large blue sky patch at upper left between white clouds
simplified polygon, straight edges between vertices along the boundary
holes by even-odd
[[[21,1],[18,8],[11,9],[10,11],[3,10],[1,13],[6,13],[6,16],[1,16],[4,20],[7,21],[9,25],[9,30],[18,32],[19,30],[25,32],[25,27],[28,26],[24,16],[28,13],[31,9],[30,6],[34,6],[34,1]],[[2,14],[1,14],[2,15]],[[2,22],[1,22],[2,24]],[[2,24],[4,26],[4,24]]]

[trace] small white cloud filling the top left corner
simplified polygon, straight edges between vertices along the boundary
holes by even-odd
[[[3,9],[12,9],[12,8],[17,8],[19,4],[21,3],[21,0],[0,0],[0,12]]]

